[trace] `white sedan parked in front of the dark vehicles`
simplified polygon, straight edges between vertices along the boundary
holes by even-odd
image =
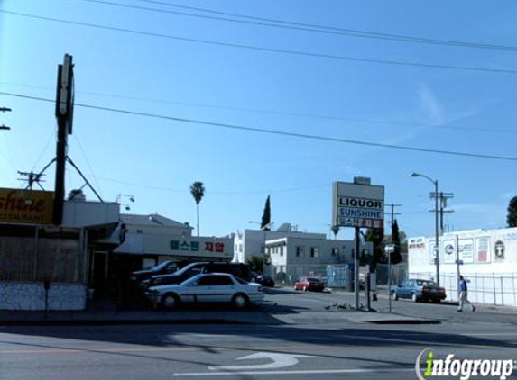
[[[152,286],[145,294],[151,302],[167,309],[180,303],[233,303],[236,308],[243,308],[263,300],[263,287],[226,273],[205,273],[180,285]]]

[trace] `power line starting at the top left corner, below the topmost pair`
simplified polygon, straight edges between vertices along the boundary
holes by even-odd
[[[53,18],[53,17],[40,16],[40,15],[35,15],[35,14],[22,14],[22,13],[18,13],[18,12],[11,12],[11,11],[5,11],[5,10],[0,10],[0,13],[13,14],[13,15],[26,17],[26,18],[32,18],[32,19],[36,19],[36,20],[51,21],[54,23],[66,23],[66,24],[70,24],[70,25],[86,26],[88,28],[96,28],[96,29],[112,31],[112,32],[125,32],[125,33],[143,35],[143,36],[147,36],[147,37],[159,37],[159,38],[176,40],[176,41],[194,42],[194,43],[213,45],[213,46],[223,46],[226,48],[255,50],[255,51],[263,51],[263,52],[269,52],[269,53],[282,53],[282,54],[289,54],[289,55],[293,55],[293,56],[324,58],[324,59],[337,59],[337,60],[346,60],[346,61],[351,61],[351,62],[365,62],[365,63],[403,66],[403,67],[412,67],[412,68],[442,68],[442,69],[450,69],[450,70],[473,71],[473,72],[483,72],[483,73],[517,74],[517,70],[507,69],[507,68],[476,68],[476,67],[467,67],[467,66],[413,63],[413,62],[405,62],[405,61],[390,60],[390,59],[365,59],[365,58],[358,58],[358,57],[338,56],[338,55],[333,55],[333,54],[312,53],[309,51],[300,51],[300,50],[265,48],[265,47],[260,47],[260,46],[244,45],[244,44],[233,43],[233,42],[200,40],[200,39],[193,39],[193,38],[188,38],[188,37],[175,36],[175,35],[171,35],[171,34],[136,31],[133,29],[119,28],[119,27],[115,27],[115,26],[101,25],[101,24],[97,24],[97,23],[81,23],[81,22],[63,20],[63,19],[58,19],[58,18]]]

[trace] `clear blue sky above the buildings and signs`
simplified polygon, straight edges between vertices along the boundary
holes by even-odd
[[[513,158],[76,105],[69,157],[104,200],[134,195],[131,213],[195,226],[189,185],[202,181],[202,235],[256,228],[248,221],[267,195],[276,226],[327,233],[331,183],[367,176],[386,204],[402,204],[402,231],[432,236],[433,185],[416,171],[454,193],[448,229],[506,224],[517,195],[515,1],[0,0],[0,11],[3,93],[53,101],[69,53],[77,104]],[[11,127],[0,131],[0,187],[21,187],[17,171],[55,155],[54,104],[0,95],[0,106],[13,109],[0,113]],[[52,190],[53,167],[46,174]],[[84,184],[72,167],[66,180],[67,193]]]

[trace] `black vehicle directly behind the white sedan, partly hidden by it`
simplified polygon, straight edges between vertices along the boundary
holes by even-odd
[[[146,289],[157,285],[181,284],[183,281],[200,273],[228,273],[242,278],[247,282],[252,280],[251,269],[246,264],[202,262],[191,263],[171,275],[152,276],[150,279],[143,281],[140,288]]]

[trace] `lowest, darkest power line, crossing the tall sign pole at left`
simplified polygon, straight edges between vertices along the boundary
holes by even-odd
[[[31,100],[37,100],[37,101],[42,101],[42,102],[54,103],[54,100],[51,100],[51,99],[45,99],[45,98],[29,96],[29,95],[12,94],[12,93],[6,93],[3,91],[0,92],[0,95],[9,95],[9,96],[14,96],[14,97],[20,97],[23,99],[31,99]],[[448,155],[448,156],[457,156],[457,157],[487,158],[487,159],[497,159],[497,160],[505,160],[505,161],[517,161],[516,157],[510,157],[510,156],[494,156],[494,155],[479,154],[479,153],[458,152],[458,151],[453,151],[453,150],[415,148],[415,147],[403,146],[403,145],[383,144],[383,143],[379,143],[379,142],[340,139],[337,137],[319,136],[319,135],[314,135],[314,134],[296,133],[296,132],[288,132],[288,131],[276,131],[276,130],[271,130],[271,129],[266,129],[266,128],[255,128],[255,127],[247,127],[244,125],[227,124],[227,123],[223,123],[223,122],[209,122],[209,121],[204,121],[204,120],[187,119],[187,118],[161,115],[161,114],[157,114],[157,113],[143,113],[143,112],[137,112],[137,111],[123,110],[123,109],[118,109],[118,108],[102,107],[102,106],[91,105],[91,104],[75,104],[75,105],[77,105],[78,107],[89,108],[89,109],[94,109],[94,110],[99,110],[99,111],[106,111],[106,112],[111,112],[111,113],[124,113],[124,114],[130,114],[130,115],[134,115],[134,116],[143,116],[143,117],[151,117],[154,119],[168,120],[171,122],[184,122],[184,123],[189,123],[189,124],[208,125],[208,126],[212,126],[212,127],[216,127],[216,128],[224,128],[224,129],[233,130],[233,131],[251,131],[251,132],[257,132],[257,133],[272,134],[272,135],[276,135],[276,136],[295,137],[295,138],[306,139],[306,140],[339,142],[339,143],[354,144],[354,145],[361,145],[361,146],[368,146],[368,147],[418,151],[418,152]]]

